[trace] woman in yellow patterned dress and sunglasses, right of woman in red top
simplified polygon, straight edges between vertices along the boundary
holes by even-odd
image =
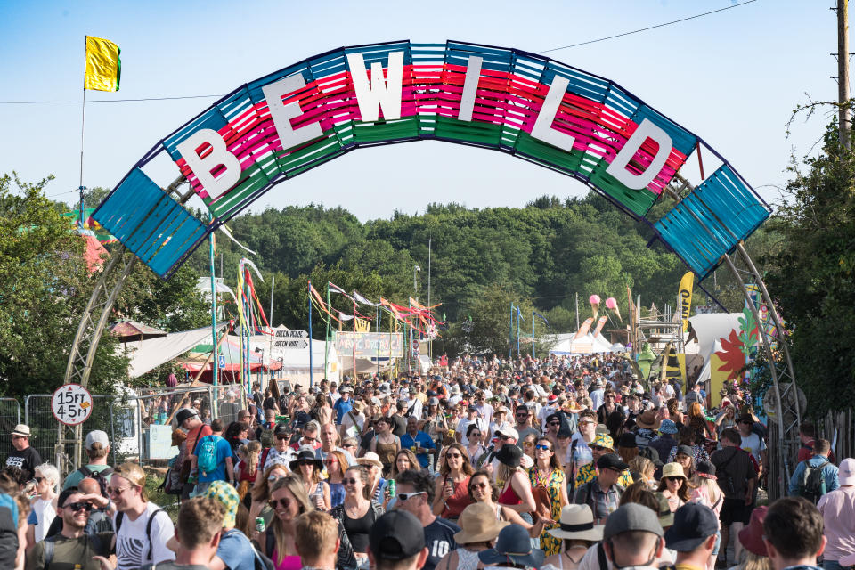
[[[567,499],[566,476],[558,464],[552,442],[546,437],[537,440],[534,457],[536,460],[528,469],[528,479],[541,497],[541,501],[535,501],[539,503],[537,514],[545,523],[541,548],[547,556],[551,556],[561,550],[561,541],[545,531],[557,526],[555,521],[561,517],[561,508],[570,502]]]

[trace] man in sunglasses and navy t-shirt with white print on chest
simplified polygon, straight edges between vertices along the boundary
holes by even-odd
[[[454,534],[460,533],[460,526],[444,518],[436,517],[431,510],[436,491],[436,482],[433,476],[424,471],[409,469],[399,473],[395,477],[395,483],[397,483],[398,493],[395,509],[405,510],[418,519],[419,524],[423,527],[421,529],[423,532],[422,544],[428,547],[428,559],[422,567],[426,570],[434,570],[440,558],[457,548]],[[374,532],[381,520],[383,517],[374,523],[371,533]],[[372,534],[369,535],[369,539],[373,544],[371,537]]]

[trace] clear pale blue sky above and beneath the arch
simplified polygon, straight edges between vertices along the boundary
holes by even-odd
[[[646,28],[736,4],[589,0],[413,4],[361,2],[4,2],[0,100],[79,100],[85,36],[122,50],[118,93],[89,99],[225,94],[314,53],[395,39],[457,39],[530,52]],[[794,106],[836,99],[835,12],[826,2],[757,0],[673,26],[548,55],[615,80],[699,134],[766,199],[778,199],[791,151],[810,152],[826,113],[795,122]],[[113,187],[160,138],[215,99],[86,105],[84,184]],[[0,104],[0,173],[53,174],[47,194],[78,185],[79,104]],[[712,159],[710,164],[712,165]],[[708,157],[704,156],[704,162]],[[707,166],[707,165],[705,165]],[[707,166],[707,172],[710,171]],[[684,168],[694,179],[696,167]],[[361,150],[269,191],[254,210],[341,205],[362,220],[424,211],[430,202],[523,206],[586,188],[495,151],[444,142]],[[200,205],[200,201],[196,205]]]

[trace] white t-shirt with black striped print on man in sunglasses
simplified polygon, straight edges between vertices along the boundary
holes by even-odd
[[[145,504],[142,515],[131,520],[126,514],[122,516],[122,525],[118,526],[117,517],[113,515],[113,526],[118,528],[116,533],[116,570],[131,570],[150,562],[158,563],[164,560],[175,560],[175,552],[167,549],[167,541],[175,535],[175,526],[166,512],[155,515],[151,522],[151,543],[145,534],[149,517],[160,509],[153,502]]]

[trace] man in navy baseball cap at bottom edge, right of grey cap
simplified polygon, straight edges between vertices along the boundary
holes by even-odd
[[[677,570],[706,570],[718,539],[719,519],[707,507],[689,502],[674,513],[674,524],[665,532],[665,546],[677,552]]]

